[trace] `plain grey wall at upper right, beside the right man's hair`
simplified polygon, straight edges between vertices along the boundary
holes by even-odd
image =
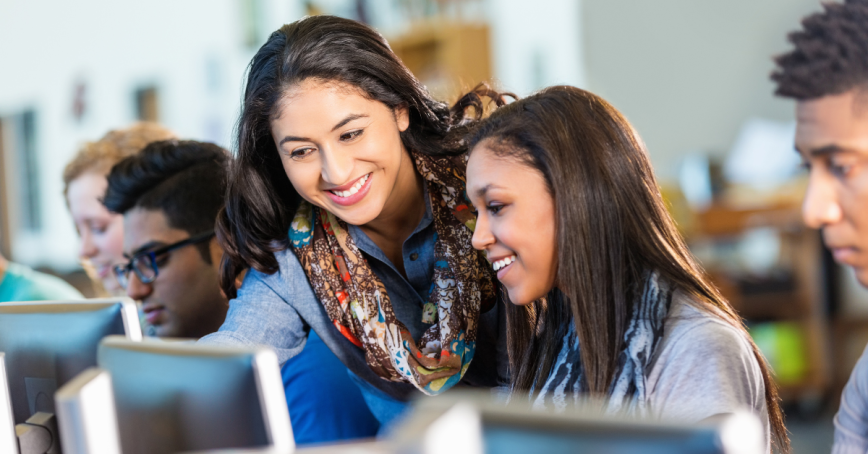
[[[662,178],[687,152],[728,151],[752,116],[793,119],[771,56],[818,0],[584,0],[590,89],[645,139]]]

